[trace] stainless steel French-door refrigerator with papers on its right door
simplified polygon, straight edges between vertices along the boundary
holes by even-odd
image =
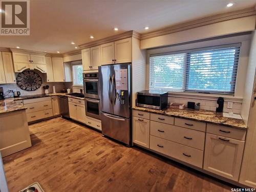
[[[131,63],[99,67],[102,134],[131,145]]]

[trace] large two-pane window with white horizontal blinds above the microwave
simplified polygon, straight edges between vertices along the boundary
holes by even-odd
[[[233,94],[239,47],[150,56],[150,90]]]

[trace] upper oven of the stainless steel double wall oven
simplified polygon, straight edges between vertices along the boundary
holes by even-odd
[[[83,73],[84,97],[99,99],[98,73]]]

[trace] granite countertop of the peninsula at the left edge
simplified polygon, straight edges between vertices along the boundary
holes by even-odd
[[[0,100],[0,114],[26,109],[25,106],[16,103],[13,98]]]

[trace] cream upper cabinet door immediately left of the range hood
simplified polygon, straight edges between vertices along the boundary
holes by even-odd
[[[16,78],[13,69],[12,54],[10,52],[2,52],[2,56],[5,68],[6,83],[15,83]]]

